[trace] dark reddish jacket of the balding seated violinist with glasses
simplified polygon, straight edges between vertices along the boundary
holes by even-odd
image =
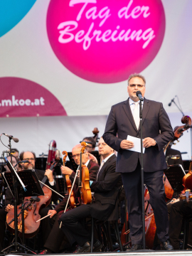
[[[89,164],[87,165],[87,168],[89,169],[89,172],[90,172],[90,181],[95,181],[95,179],[97,177],[97,171],[100,169],[100,166],[90,160]],[[74,181],[74,178],[75,178],[75,171],[73,171],[73,173],[70,176],[70,179],[72,182]],[[75,184],[74,184],[74,189],[73,189],[73,191],[75,191],[75,203],[76,204],[80,203],[78,201],[80,198],[78,181],[79,181],[79,178],[77,177]],[[57,213],[59,213],[60,210],[65,210],[67,201],[68,201],[68,196],[65,196],[65,198],[63,198],[63,200],[58,204],[58,206],[55,207],[55,210],[57,211]]]

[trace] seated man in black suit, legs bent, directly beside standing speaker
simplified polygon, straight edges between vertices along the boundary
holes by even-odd
[[[105,144],[101,138],[98,143],[99,154],[103,162],[97,172],[97,180],[90,181],[91,191],[95,201],[69,210],[59,218],[62,221],[61,229],[68,237],[70,245],[78,243],[75,252],[90,252],[90,233],[82,226],[81,220],[92,216],[97,220],[114,220],[118,218],[117,196],[122,186],[121,176],[115,172],[116,156],[113,149]],[[59,245],[58,245],[59,247]],[[102,247],[99,240],[94,240],[93,250],[97,252]],[[45,253],[50,253],[46,250]]]

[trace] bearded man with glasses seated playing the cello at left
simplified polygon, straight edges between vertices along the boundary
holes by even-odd
[[[14,159],[14,156],[12,156],[12,157]],[[21,164],[23,170],[34,169],[36,172],[36,175],[38,176],[38,179],[40,181],[46,175],[48,177],[48,181],[46,182],[46,185],[50,186],[50,188],[52,188],[55,191],[57,190],[57,187],[55,186],[55,182],[53,180],[53,171],[51,171],[49,169],[46,171],[41,171],[41,170],[35,169],[35,164],[36,164],[36,154],[35,153],[33,153],[31,151],[21,152],[20,159],[21,159],[21,161],[22,160],[28,161],[28,163]],[[27,185],[27,184],[25,184],[25,185]],[[58,201],[58,195],[54,192],[52,192],[51,201]],[[19,203],[20,202],[18,202],[18,204]],[[9,210],[11,210],[11,208],[14,207],[13,205],[14,205],[14,201],[13,201],[12,193],[9,190],[9,188],[7,188],[6,189],[5,211],[9,212]],[[46,208],[41,208],[41,210],[39,211],[41,218],[46,216],[48,214],[48,210],[50,210],[50,209],[52,209],[52,207],[50,205],[47,206]],[[6,221],[6,217],[5,217],[4,221]],[[41,230],[42,230],[41,236],[43,238],[43,243],[44,243],[46,241],[46,239],[48,238],[48,234],[50,233],[50,230],[51,230],[48,218],[44,218],[43,220],[41,220]],[[4,236],[1,238],[1,244],[3,244],[3,241],[4,241]]]

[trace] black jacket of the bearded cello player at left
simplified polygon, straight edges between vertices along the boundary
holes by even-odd
[[[38,176],[38,179],[41,181],[44,178],[45,171],[35,169],[35,172],[36,172],[36,175]],[[50,183],[46,181],[46,185],[50,186],[50,188],[57,191],[57,187],[55,184],[51,186]],[[54,193],[53,191],[52,191],[51,201],[58,201],[58,194]],[[11,191],[9,190],[9,188],[6,188],[5,206],[7,206],[8,204],[14,205],[14,202],[13,202],[13,196]],[[18,201],[18,204],[20,204],[19,201]]]

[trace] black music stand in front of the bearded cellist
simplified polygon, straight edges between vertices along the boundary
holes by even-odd
[[[9,247],[6,247],[4,250],[1,252],[4,252],[5,250],[8,250],[9,248],[15,246],[16,247],[16,252],[18,252],[18,247],[23,248],[24,250],[27,250],[28,252],[33,252],[30,248],[26,247],[25,244],[25,230],[24,230],[24,205],[23,205],[23,198],[28,197],[28,196],[44,196],[43,189],[41,188],[41,185],[38,181],[38,177],[36,176],[36,173],[34,170],[24,170],[24,171],[18,171],[17,172],[19,178],[21,178],[21,181],[23,183],[28,184],[26,186],[26,190],[23,189],[22,186],[19,186],[18,181],[15,183],[13,182],[13,174],[10,171],[6,171],[3,173],[4,181],[6,181],[7,185],[9,186],[9,189],[11,191],[12,196],[14,197],[14,208],[16,210],[14,211],[14,219],[9,222],[11,224],[14,222],[15,230],[17,229],[18,225],[18,216],[21,214],[22,216],[22,240],[23,240],[23,245],[17,242],[17,232],[15,232],[15,241]],[[17,183],[17,184],[16,184]],[[21,184],[20,184],[21,185]],[[17,194],[15,193],[15,189],[17,188]],[[16,198],[15,198],[16,194]],[[17,205],[18,205],[18,197],[21,198],[21,212],[17,214]],[[16,221],[14,221],[16,220]]]

